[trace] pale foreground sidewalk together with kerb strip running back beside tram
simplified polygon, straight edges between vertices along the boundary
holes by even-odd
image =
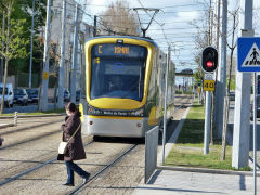
[[[179,136],[185,121],[186,110],[180,120],[172,138],[166,144],[165,156],[167,156]],[[157,169],[147,184],[144,180],[132,193],[133,195],[167,195],[167,194],[232,194],[252,195],[252,172],[238,172],[212,169],[170,168],[161,167],[161,148],[157,158]],[[259,172],[259,170],[258,170]],[[251,176],[249,176],[251,174]],[[260,174],[260,173],[258,173]],[[260,193],[260,177],[257,178],[257,190]]]

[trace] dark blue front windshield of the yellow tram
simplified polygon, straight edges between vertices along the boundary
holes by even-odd
[[[91,99],[120,98],[142,101],[145,58],[92,61]]]

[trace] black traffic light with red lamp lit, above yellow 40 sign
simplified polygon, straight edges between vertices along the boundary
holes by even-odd
[[[204,72],[214,72],[218,67],[218,51],[212,47],[207,47],[203,51],[202,68]]]

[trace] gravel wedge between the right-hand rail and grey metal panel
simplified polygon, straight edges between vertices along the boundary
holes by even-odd
[[[78,194],[131,194],[144,177],[145,145],[138,145],[112,169],[93,180]]]

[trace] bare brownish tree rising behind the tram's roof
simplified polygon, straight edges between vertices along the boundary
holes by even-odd
[[[100,28],[102,34],[139,36],[139,25],[126,1],[112,2],[109,8],[101,14]]]

